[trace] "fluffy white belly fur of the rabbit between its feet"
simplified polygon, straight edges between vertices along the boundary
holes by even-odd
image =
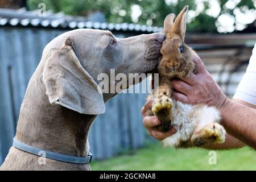
[[[207,105],[188,105],[172,100],[172,125],[177,126],[177,132],[162,140],[164,146],[189,147],[195,130],[200,131],[210,123],[219,123],[220,113],[215,107]]]

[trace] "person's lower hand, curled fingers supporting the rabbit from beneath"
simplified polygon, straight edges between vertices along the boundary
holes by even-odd
[[[170,137],[171,135],[177,132],[177,126],[172,126],[171,129],[167,133],[162,133],[156,126],[161,125],[161,121],[155,117],[154,115],[148,115],[148,111],[152,109],[152,104],[154,100],[149,100],[142,107],[141,113],[143,117],[143,125],[146,127],[148,134],[152,135],[155,139],[163,140],[164,138]]]

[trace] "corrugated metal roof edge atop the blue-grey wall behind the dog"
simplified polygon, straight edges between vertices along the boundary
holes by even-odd
[[[38,15],[38,10],[27,11],[26,8],[0,9],[0,26],[32,26],[51,28],[95,28],[115,31],[163,32],[162,27],[145,26],[133,23],[95,22],[87,16],[70,16],[63,12],[46,11],[44,16]]]

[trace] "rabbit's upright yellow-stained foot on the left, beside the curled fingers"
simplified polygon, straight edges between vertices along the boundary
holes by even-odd
[[[158,130],[162,132],[167,132],[170,130],[171,126],[171,109],[172,109],[172,100],[167,96],[162,96],[156,98],[153,106],[152,112],[156,117],[160,119],[162,125],[158,126]]]

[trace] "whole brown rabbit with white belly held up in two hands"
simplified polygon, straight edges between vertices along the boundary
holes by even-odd
[[[178,127],[174,135],[162,140],[164,146],[191,147],[225,141],[226,131],[219,124],[221,117],[215,107],[203,104],[192,106],[171,98],[171,79],[184,78],[196,72],[192,58],[195,52],[184,44],[187,10],[188,6],[185,6],[176,19],[174,14],[170,14],[164,20],[166,40],[158,65],[159,86],[148,97],[155,99],[152,114],[162,121],[158,129],[167,132],[172,125]]]

